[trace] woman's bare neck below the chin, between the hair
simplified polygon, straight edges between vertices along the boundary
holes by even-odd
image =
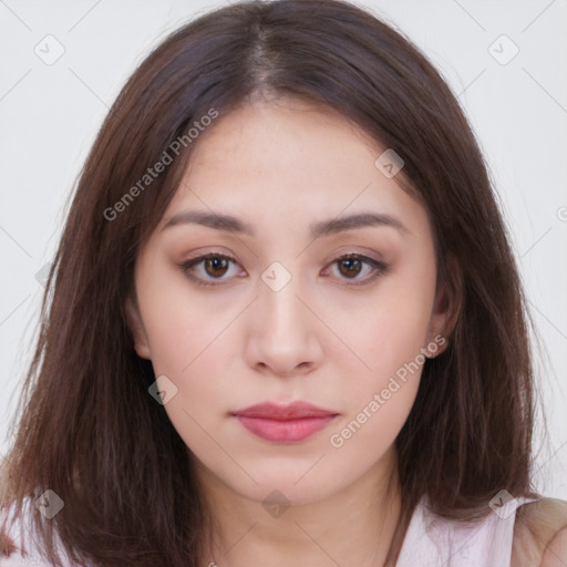
[[[210,567],[383,566],[401,511],[394,452],[341,492],[291,503],[276,517],[216,476],[202,473],[200,481],[209,511],[202,563]]]

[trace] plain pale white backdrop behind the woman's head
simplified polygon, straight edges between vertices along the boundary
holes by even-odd
[[[150,49],[225,3],[0,0],[2,453],[30,360],[42,268],[97,128]],[[539,416],[537,487],[567,499],[567,2],[357,3],[421,48],[480,140],[543,343],[536,368],[549,436]]]

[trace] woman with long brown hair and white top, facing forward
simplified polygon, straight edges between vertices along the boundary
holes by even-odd
[[[567,561],[482,155],[361,9],[246,2],[166,39],[99,134],[48,290],[6,565]]]

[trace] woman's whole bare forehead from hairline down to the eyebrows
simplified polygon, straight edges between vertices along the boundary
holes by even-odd
[[[306,219],[306,229],[360,212],[423,224],[423,207],[377,167],[384,150],[326,107],[290,99],[243,105],[199,135],[162,226],[186,209],[271,226]]]

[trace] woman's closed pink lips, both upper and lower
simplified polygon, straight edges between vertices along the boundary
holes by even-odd
[[[337,412],[307,402],[250,405],[233,415],[251,433],[274,443],[297,443],[327,427]]]

